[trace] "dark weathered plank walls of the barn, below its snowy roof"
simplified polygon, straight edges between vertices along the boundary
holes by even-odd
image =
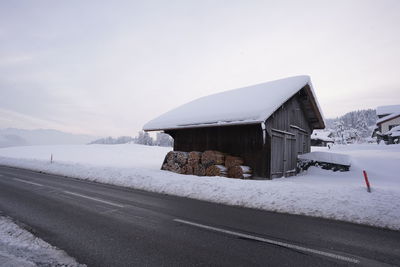
[[[304,90],[282,104],[265,121],[265,127],[257,123],[165,132],[174,138],[175,151],[218,150],[239,156],[256,177],[295,175],[297,155],[310,152],[310,135],[316,118]]]

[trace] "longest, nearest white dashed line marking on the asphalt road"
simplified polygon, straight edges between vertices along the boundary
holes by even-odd
[[[225,229],[222,229],[222,228],[217,228],[217,227],[208,226],[208,225],[195,223],[195,222],[190,222],[190,221],[181,220],[181,219],[174,219],[174,221],[175,222],[179,222],[179,223],[183,223],[183,224],[187,224],[187,225],[191,225],[191,226],[195,226],[195,227],[199,227],[199,228],[203,228],[203,229],[207,229],[207,230],[211,230],[211,231],[215,231],[215,232],[228,234],[228,235],[238,236],[238,237],[252,239],[252,240],[256,240],[256,241],[261,241],[261,242],[264,242],[264,243],[278,245],[278,246],[281,246],[281,247],[295,249],[295,250],[298,250],[298,251],[313,253],[313,254],[317,254],[317,255],[333,258],[333,259],[336,259],[336,260],[342,260],[342,261],[356,263],[356,264],[360,263],[359,260],[354,259],[354,258],[341,256],[341,255],[337,255],[337,254],[333,254],[333,253],[329,253],[329,252],[325,252],[325,251],[320,251],[320,250],[316,250],[316,249],[312,249],[312,248],[306,248],[306,247],[293,245],[293,244],[289,244],[289,243],[285,243],[285,242],[281,242],[281,241],[276,241],[276,240],[267,239],[267,238],[263,238],[263,237],[243,234],[243,233],[239,233],[239,232],[225,230]]]

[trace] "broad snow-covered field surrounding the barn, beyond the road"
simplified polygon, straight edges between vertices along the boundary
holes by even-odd
[[[229,205],[400,230],[400,145],[334,146],[329,152],[349,155],[350,172],[311,167],[298,176],[274,180],[161,171],[169,150],[135,144],[13,147],[0,149],[0,164]],[[368,172],[372,193],[366,191],[363,169]]]

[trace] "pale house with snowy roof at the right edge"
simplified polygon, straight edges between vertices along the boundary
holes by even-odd
[[[398,142],[397,128],[394,128],[400,125],[400,105],[377,107],[376,115],[378,120],[372,137],[377,137],[378,143],[382,140],[387,144]]]

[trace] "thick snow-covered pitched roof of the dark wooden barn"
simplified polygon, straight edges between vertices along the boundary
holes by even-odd
[[[317,118],[315,128],[324,128],[310,77],[294,76],[198,98],[149,121],[143,129],[159,131],[261,123],[303,88]]]

